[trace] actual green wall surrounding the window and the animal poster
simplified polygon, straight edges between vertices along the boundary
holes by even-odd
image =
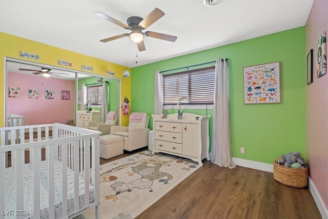
[[[229,58],[232,156],[268,164],[291,151],[300,151],[306,158],[305,27],[132,68],[132,111],[153,113],[156,70],[207,63],[218,57]],[[272,62],[280,62],[281,103],[244,105],[243,67]],[[206,114],[205,110],[184,111]],[[208,110],[208,114],[212,116],[213,111]],[[245,148],[244,154],[240,153],[240,147]]]

